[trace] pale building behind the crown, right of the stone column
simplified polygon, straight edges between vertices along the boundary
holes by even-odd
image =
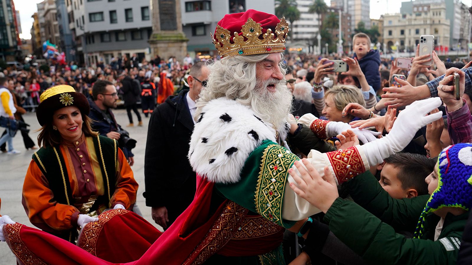
[[[216,24],[225,14],[242,12],[247,9],[256,9],[269,14],[275,13],[274,0],[180,1],[182,29],[185,36],[189,39],[187,50],[191,57],[194,57],[196,54],[202,58],[217,54],[215,45],[211,42],[210,33],[215,31]]]

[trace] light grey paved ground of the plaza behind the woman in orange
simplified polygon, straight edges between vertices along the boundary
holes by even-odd
[[[139,184],[139,190],[136,198],[136,205],[139,208],[142,216],[151,224],[160,228],[151,217],[151,207],[146,207],[145,199],[143,197],[144,192],[144,151],[146,148],[146,137],[149,118],[143,118],[143,127],[125,127],[128,124],[128,117],[126,110],[117,109],[114,110],[115,117],[118,124],[121,124],[128,132],[131,138],[137,141],[136,148],[133,149],[135,154],[135,165],[131,168],[135,174],[135,179]],[[36,142],[38,132],[34,132],[39,129],[39,123],[36,120],[35,113],[27,113],[24,116],[25,122],[30,124],[31,129],[29,135]],[[137,124],[137,119],[133,113],[133,119]],[[0,128],[0,134],[3,132],[3,128]],[[160,139],[160,141],[166,141]],[[1,198],[1,209],[0,214],[9,215],[14,221],[34,227],[26,216],[25,209],[21,204],[21,190],[23,187],[23,181],[28,166],[31,162],[31,156],[33,150],[26,150],[23,144],[23,138],[18,132],[13,141],[15,149],[21,151],[18,155],[7,155],[7,153],[0,153],[0,198]],[[160,230],[162,230],[160,228]],[[5,242],[0,242],[0,265],[14,265],[16,264],[15,255],[10,251]]]

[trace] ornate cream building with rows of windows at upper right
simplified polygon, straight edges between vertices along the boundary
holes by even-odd
[[[450,22],[446,19],[446,4],[415,6],[415,14],[384,15],[383,42],[387,50],[398,42],[400,51],[414,52],[421,35],[434,35],[435,49],[447,51],[450,43]],[[420,11],[421,7],[421,13]]]

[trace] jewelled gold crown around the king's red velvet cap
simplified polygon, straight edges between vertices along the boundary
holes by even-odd
[[[285,38],[288,33],[288,23],[285,17],[282,17],[275,27],[277,37],[272,33],[272,29],[267,29],[267,32],[264,33],[262,39],[260,39],[259,35],[262,34],[261,23],[256,23],[252,18],[248,18],[246,23],[242,26],[241,32],[243,33],[242,36],[239,36],[238,33],[235,32],[234,37],[231,38],[231,33],[227,29],[216,25],[215,37],[219,37],[219,40],[216,40],[211,33],[210,35],[221,58],[283,52],[285,50]],[[247,39],[246,41],[244,41],[244,37]],[[233,43],[231,43],[230,40],[232,40]]]

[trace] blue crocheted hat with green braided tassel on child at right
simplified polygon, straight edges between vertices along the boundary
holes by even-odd
[[[438,188],[421,213],[414,233],[421,238],[426,215],[442,207],[472,207],[472,144],[458,143],[442,150],[438,157]]]

